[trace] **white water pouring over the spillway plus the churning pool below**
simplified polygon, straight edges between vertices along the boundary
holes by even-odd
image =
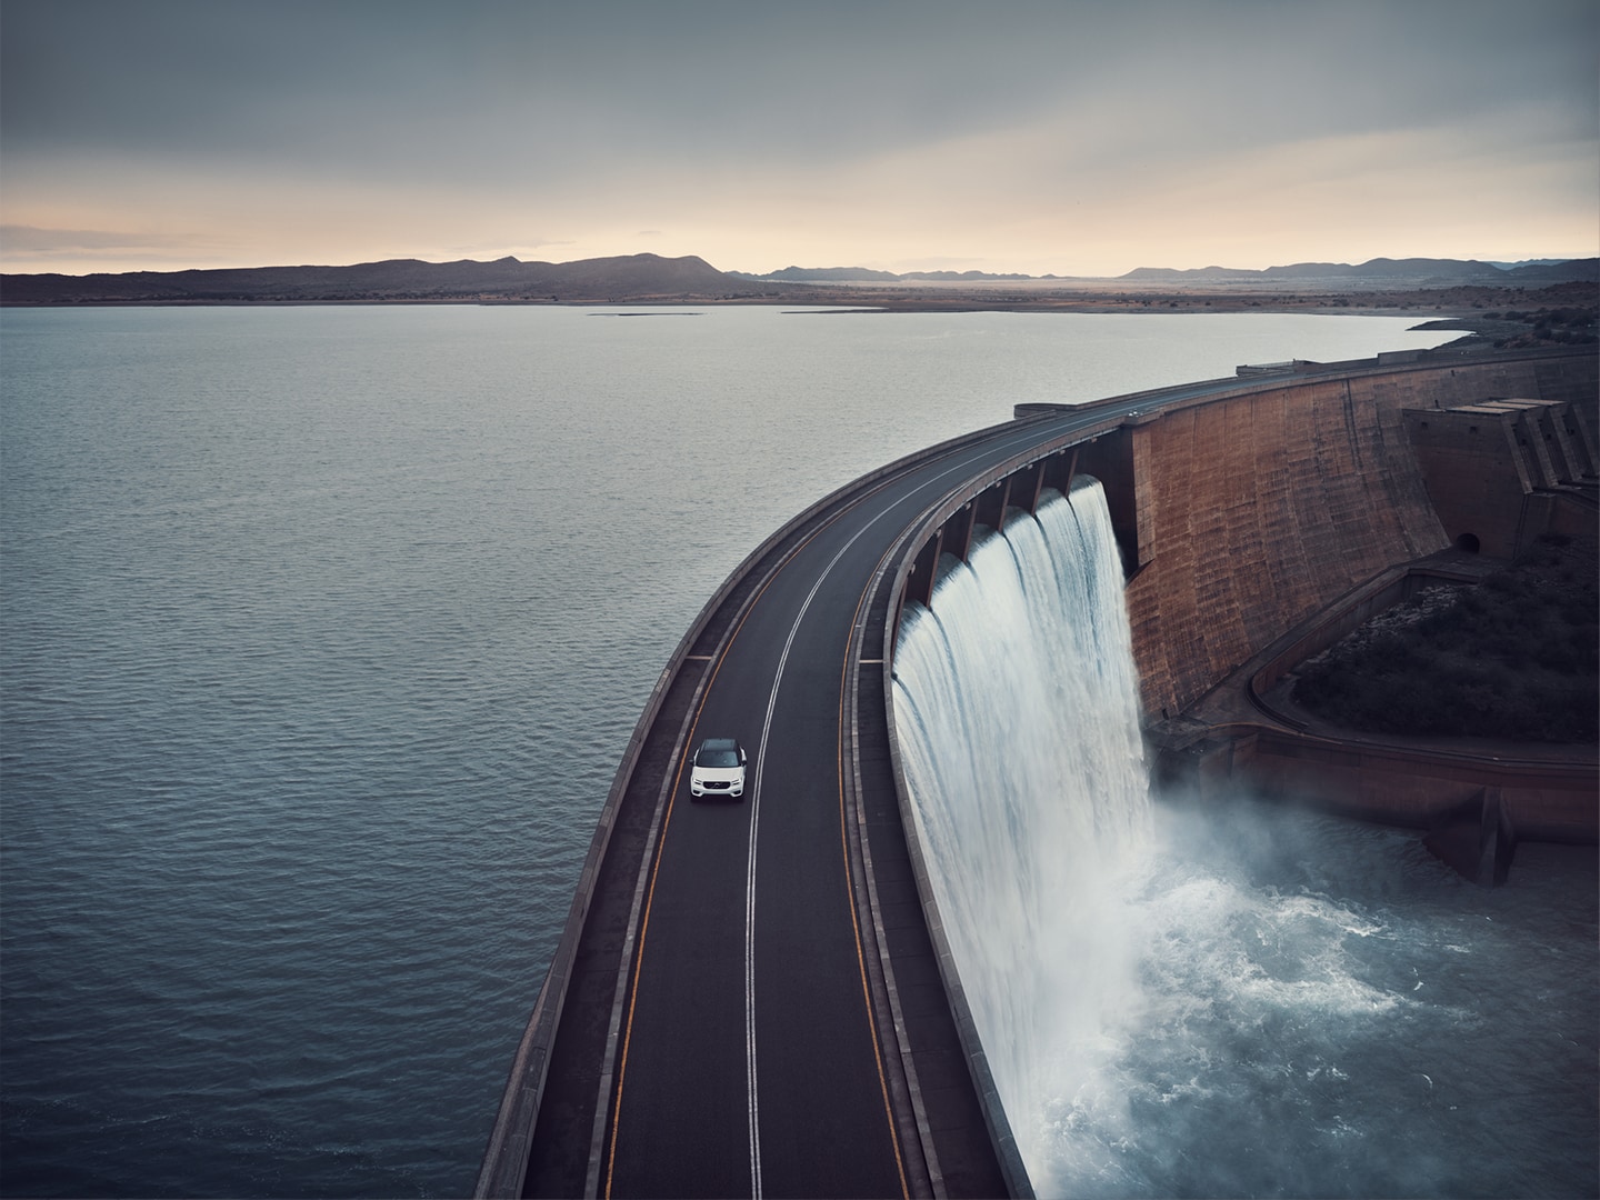
[[[1594,851],[1474,888],[1413,834],[1152,805],[1098,485],[949,566],[894,712],[1042,1195],[1589,1195]]]

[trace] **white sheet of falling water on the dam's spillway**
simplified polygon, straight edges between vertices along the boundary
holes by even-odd
[[[894,722],[950,949],[1038,1184],[1050,1110],[1093,1106],[1106,1030],[1139,1003],[1120,894],[1154,819],[1099,482],[1013,510],[941,571],[901,622]]]

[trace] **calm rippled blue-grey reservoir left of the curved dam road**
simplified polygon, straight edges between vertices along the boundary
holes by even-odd
[[[0,310],[8,1194],[454,1195],[704,598],[883,461],[1362,317]]]

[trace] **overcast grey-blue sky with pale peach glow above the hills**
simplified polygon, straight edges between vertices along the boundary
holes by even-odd
[[[5,270],[1600,251],[1600,0],[3,0]]]

